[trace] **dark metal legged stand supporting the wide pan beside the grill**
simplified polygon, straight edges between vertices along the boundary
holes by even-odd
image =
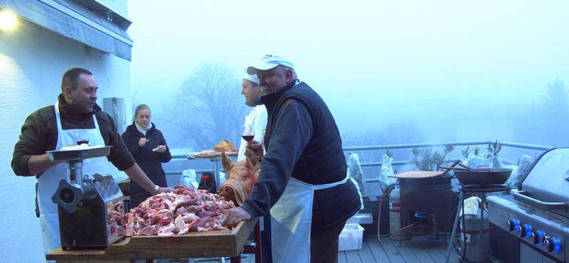
[[[479,185],[470,185],[470,186],[464,186],[464,185],[460,185],[460,200],[459,200],[459,204],[458,204],[458,210],[457,210],[457,215],[456,218],[454,218],[454,227],[452,228],[452,234],[450,236],[450,242],[449,242],[449,247],[447,250],[447,258],[445,259],[445,263],[449,262],[450,259],[450,253],[452,252],[452,245],[454,245],[454,237],[457,234],[457,225],[458,225],[458,220],[460,218],[460,211],[462,209],[464,209],[464,195],[466,195],[465,193],[482,193],[482,208],[480,211],[480,227],[479,227],[479,235],[478,235],[478,239],[479,239],[479,244],[482,244],[482,228],[483,228],[483,224],[484,224],[484,208],[485,208],[485,203],[486,203],[486,193],[495,193],[495,192],[501,192],[504,190],[510,190],[510,187],[508,185],[488,185],[488,186],[479,186]],[[464,214],[464,210],[463,210],[463,214]],[[462,220],[464,220],[464,217],[462,218]],[[464,222],[463,222],[464,225]],[[464,255],[464,257],[466,257],[466,255]],[[464,260],[463,257],[463,260]],[[462,261],[461,261],[462,262]],[[482,262],[482,245],[480,245],[478,247],[478,263]]]

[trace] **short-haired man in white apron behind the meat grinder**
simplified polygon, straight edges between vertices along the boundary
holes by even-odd
[[[65,163],[49,160],[46,151],[87,140],[90,146],[113,146],[107,157],[85,159],[83,173],[102,173],[107,159],[132,180],[151,193],[165,193],[171,189],[158,188],[142,172],[117,133],[115,122],[95,104],[97,82],[88,70],[72,68],[64,75],[62,94],[54,105],[30,114],[22,127],[20,140],[14,146],[12,169],[18,176],[36,176],[37,205],[43,240],[43,251],[48,253],[61,247],[58,206],[51,201],[59,181],[66,178]],[[36,208],[37,209],[37,208]]]

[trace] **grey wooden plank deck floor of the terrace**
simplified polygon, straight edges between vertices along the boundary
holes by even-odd
[[[435,236],[418,235],[408,241],[378,242],[376,237],[369,237],[362,244],[361,250],[342,251],[338,253],[338,263],[444,263],[447,256],[447,247],[443,240]],[[144,263],[138,260],[137,263]],[[161,259],[158,263],[174,263],[170,259]],[[196,262],[189,259],[189,263]],[[229,262],[229,259],[225,260]],[[224,263],[225,263],[224,262]],[[255,263],[255,255],[241,259],[242,263]],[[452,252],[450,262],[459,262],[458,255]],[[205,263],[220,263],[219,260]]]

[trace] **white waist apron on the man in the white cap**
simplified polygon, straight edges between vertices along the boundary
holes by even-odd
[[[285,193],[271,209],[272,262],[309,263],[312,200],[314,191],[339,186],[348,181],[311,185],[290,178]]]

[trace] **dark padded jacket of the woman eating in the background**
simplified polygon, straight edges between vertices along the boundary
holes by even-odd
[[[166,174],[162,169],[162,163],[169,162],[172,156],[167,146],[164,154],[152,151],[159,145],[166,145],[166,140],[162,132],[156,129],[153,123],[151,125],[152,127],[147,131],[147,135],[144,136],[144,134],[138,131],[133,122],[127,127],[127,131],[122,134],[122,140],[148,178],[160,187],[166,187]],[[138,145],[138,142],[142,137],[146,137],[148,142],[141,147]],[[138,206],[149,197],[150,193],[147,190],[144,190],[138,183],[130,181],[130,203],[132,208]]]

